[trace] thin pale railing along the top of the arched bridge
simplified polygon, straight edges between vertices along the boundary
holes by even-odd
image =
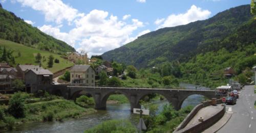
[[[186,90],[186,89],[165,89],[165,88],[125,88],[125,87],[89,87],[89,86],[67,86],[69,88],[94,88],[94,89],[133,89],[133,90],[166,90],[166,91],[198,91],[198,92],[217,92],[214,90]]]

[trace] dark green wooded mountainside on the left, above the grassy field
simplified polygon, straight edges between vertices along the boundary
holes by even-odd
[[[75,51],[67,43],[49,36],[0,5],[0,38],[29,47],[61,53]]]

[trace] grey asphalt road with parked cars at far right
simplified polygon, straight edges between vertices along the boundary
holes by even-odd
[[[245,86],[240,92],[237,104],[226,105],[226,111],[233,112],[229,121],[218,131],[226,132],[256,132],[256,110],[254,108],[254,86]]]

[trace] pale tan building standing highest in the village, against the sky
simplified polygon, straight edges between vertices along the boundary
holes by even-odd
[[[68,60],[76,63],[78,62],[79,60],[82,61],[84,64],[89,64],[89,60],[88,60],[88,57],[87,57],[87,53],[86,52],[73,52],[72,54],[70,54],[68,56]]]

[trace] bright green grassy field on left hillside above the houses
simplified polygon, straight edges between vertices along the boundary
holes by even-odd
[[[41,60],[42,67],[44,67],[45,69],[49,69],[53,73],[74,65],[72,62],[61,58],[60,55],[53,54],[49,51],[44,51],[44,50],[27,47],[25,45],[18,44],[18,43],[12,42],[12,41],[0,39],[0,46],[1,47],[5,46],[7,49],[12,49],[14,51],[13,56],[15,57],[16,64],[39,65],[39,63],[35,62],[35,56],[39,52],[42,57],[45,56],[45,58],[46,58],[45,62],[42,62],[42,60]],[[18,57],[18,52],[20,52],[20,54],[21,54],[20,57]],[[54,59],[59,60],[59,63],[54,63],[52,68],[47,67],[48,57],[50,55],[53,55]],[[14,64],[14,66],[16,64]]]

